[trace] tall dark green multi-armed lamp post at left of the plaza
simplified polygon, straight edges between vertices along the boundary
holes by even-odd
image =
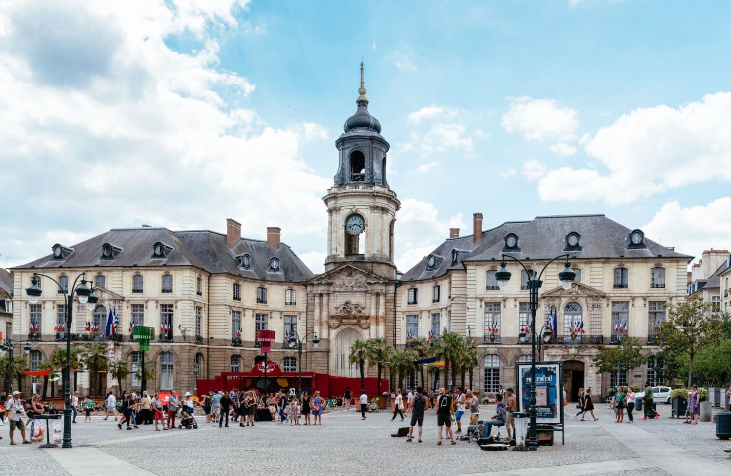
[[[31,304],[38,302],[38,298],[42,293],[41,288],[39,287],[41,276],[48,277],[48,279],[53,281],[53,283],[56,283],[56,285],[58,285],[58,289],[64,293],[66,300],[66,369],[64,369],[64,379],[66,380],[66,383],[64,385],[64,442],[62,448],[71,448],[71,319],[74,307],[74,294],[78,296],[81,304],[86,304],[86,309],[90,311],[94,310],[96,303],[99,302],[99,298],[96,294],[94,294],[94,291],[91,291],[91,288],[86,285],[86,283],[91,283],[91,281],[86,280],[86,273],[81,273],[76,277],[74,284],[71,287],[71,292],[67,292],[67,290],[58,283],[58,281],[53,279],[53,277],[42,275],[41,273],[33,273],[31,285],[26,288],[28,301],[31,302]],[[76,283],[79,278],[81,278],[81,282],[77,286]]]

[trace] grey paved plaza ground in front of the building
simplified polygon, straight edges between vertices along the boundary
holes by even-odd
[[[659,411],[667,415],[670,407],[659,406]],[[402,424],[392,422],[387,412],[361,421],[360,413],[353,410],[330,412],[323,416],[322,426],[262,422],[254,428],[233,423],[219,429],[217,424],[205,423],[201,415],[197,430],[173,431],[118,430],[111,419],[97,417],[92,423],[80,421],[73,426],[70,450],[10,447],[6,425],[1,429],[0,475],[687,476],[731,472],[731,459],[723,453],[731,442],[716,438],[715,424],[683,425],[667,416],[618,424],[605,405],[597,416],[596,422],[569,418],[566,445],[561,446],[558,436],[557,445],[537,452],[486,452],[474,442],[437,446],[436,415],[431,411],[425,418],[423,443],[390,437]]]

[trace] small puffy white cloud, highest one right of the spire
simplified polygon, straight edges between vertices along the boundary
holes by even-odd
[[[526,139],[567,140],[575,138],[577,112],[559,107],[556,99],[512,98],[501,126],[508,132],[522,132]]]

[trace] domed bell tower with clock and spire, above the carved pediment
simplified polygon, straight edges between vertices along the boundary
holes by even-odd
[[[363,62],[357,110],[335,142],[338,172],[323,197],[327,206],[325,272],[350,263],[381,277],[395,279],[393,228],[401,202],[386,181],[386,154],[381,123],[368,112]]]

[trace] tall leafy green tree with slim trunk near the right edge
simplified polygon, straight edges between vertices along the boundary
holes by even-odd
[[[700,296],[667,307],[667,320],[656,327],[659,346],[675,355],[688,356],[688,388],[693,384],[693,364],[697,354],[716,344],[723,336],[723,326],[711,318],[711,303]]]

